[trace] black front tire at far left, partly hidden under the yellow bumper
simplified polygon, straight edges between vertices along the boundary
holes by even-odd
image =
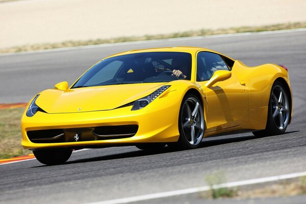
[[[36,159],[46,165],[64,164],[71,156],[72,149],[37,149],[33,150]]]

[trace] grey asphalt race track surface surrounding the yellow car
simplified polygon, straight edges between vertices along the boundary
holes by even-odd
[[[136,147],[74,152],[67,164],[36,160],[0,166],[0,203],[87,203],[206,185],[222,171],[227,182],[301,172],[306,169],[306,31],[123,43],[93,48],[0,56],[0,103],[28,101],[61,81],[73,82],[90,65],[130,49],[200,46],[247,65],[284,64],[293,89],[293,119],[287,134],[256,138],[251,133],[204,139],[195,150],[148,153]],[[199,196],[142,201],[192,203]],[[302,203],[304,196],[263,203]],[[228,201],[228,203],[232,203]],[[246,202],[241,202],[246,203]],[[257,203],[257,202],[256,202]]]

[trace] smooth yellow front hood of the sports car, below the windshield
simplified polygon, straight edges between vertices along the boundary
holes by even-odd
[[[165,83],[122,84],[99,87],[48,89],[36,100],[47,113],[80,113],[111,110],[142,98]]]

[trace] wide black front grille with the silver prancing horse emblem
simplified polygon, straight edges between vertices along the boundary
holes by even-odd
[[[137,131],[138,125],[109,125],[28,131],[27,135],[34,143],[58,143],[129,138]]]

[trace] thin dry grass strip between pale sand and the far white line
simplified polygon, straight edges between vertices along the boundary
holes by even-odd
[[[167,38],[192,37],[192,36],[208,36],[208,35],[230,34],[230,33],[277,31],[277,30],[298,29],[298,28],[306,28],[306,22],[282,23],[282,24],[264,25],[256,27],[236,27],[236,28],[217,29],[217,30],[201,29],[198,31],[186,31],[186,32],[171,33],[171,34],[118,37],[110,39],[95,39],[95,40],[83,40],[83,41],[70,40],[60,43],[43,43],[43,44],[9,47],[9,48],[0,49],[0,54],[24,52],[24,51],[39,50],[39,49],[52,49],[52,48],[61,48],[61,47],[116,43],[116,42],[131,42],[131,41],[140,41],[140,40],[154,40],[154,39],[167,39]]]

